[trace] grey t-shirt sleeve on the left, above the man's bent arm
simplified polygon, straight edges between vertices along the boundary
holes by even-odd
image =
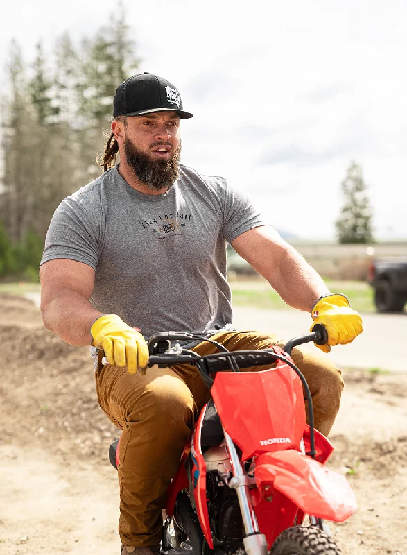
[[[65,198],[49,224],[41,264],[66,258],[84,262],[96,270],[99,228],[95,215],[89,214],[78,198]]]

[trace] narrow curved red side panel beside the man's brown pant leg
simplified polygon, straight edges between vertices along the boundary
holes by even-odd
[[[196,423],[195,430],[191,439],[191,458],[192,458],[192,480],[193,480],[193,494],[196,503],[196,512],[202,532],[207,540],[211,549],[214,549],[214,542],[211,536],[211,527],[209,525],[209,514],[207,506],[207,465],[202,455],[200,445],[200,438],[202,433],[202,422],[205,416],[207,405],[203,407],[198,422]]]

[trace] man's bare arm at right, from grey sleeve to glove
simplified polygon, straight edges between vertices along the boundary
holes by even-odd
[[[311,312],[320,296],[330,293],[320,275],[268,225],[242,233],[232,246],[291,307]]]

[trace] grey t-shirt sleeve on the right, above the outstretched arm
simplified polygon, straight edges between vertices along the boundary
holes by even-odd
[[[232,243],[245,231],[270,225],[257,210],[253,200],[243,191],[238,191],[225,182],[225,201],[223,205],[223,237]]]

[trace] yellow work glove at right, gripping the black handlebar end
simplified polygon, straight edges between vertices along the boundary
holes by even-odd
[[[311,332],[315,324],[322,324],[327,329],[327,344],[317,345],[324,352],[331,350],[330,345],[350,343],[363,332],[361,315],[352,310],[349,300],[341,293],[331,293],[320,298],[311,310],[311,317],[314,321]]]

